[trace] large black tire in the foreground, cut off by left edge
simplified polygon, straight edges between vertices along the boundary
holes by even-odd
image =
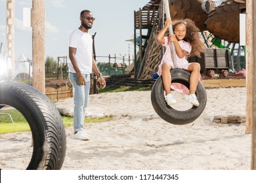
[[[0,105],[16,108],[26,118],[33,137],[32,159],[26,169],[61,169],[66,132],[53,102],[28,84],[0,82]]]

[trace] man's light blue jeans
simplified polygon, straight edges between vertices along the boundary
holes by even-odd
[[[74,89],[74,131],[82,131],[85,120],[85,109],[89,100],[91,87],[90,75],[83,74],[85,77],[85,85],[78,84],[76,73],[70,73],[70,82]]]

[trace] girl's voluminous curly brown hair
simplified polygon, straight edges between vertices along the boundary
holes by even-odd
[[[201,53],[205,50],[205,46],[198,34],[200,29],[196,27],[196,24],[192,20],[186,18],[184,20],[173,20],[173,31],[178,24],[186,25],[186,37],[184,38],[184,41],[190,42],[192,46],[189,56],[198,56],[200,58]]]

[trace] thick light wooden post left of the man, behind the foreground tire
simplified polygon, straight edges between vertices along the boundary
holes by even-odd
[[[45,1],[32,1],[32,86],[45,93]]]

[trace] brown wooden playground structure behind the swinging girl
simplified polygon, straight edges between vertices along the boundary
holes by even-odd
[[[234,26],[236,26],[236,31],[234,29],[230,30],[230,27],[225,27],[223,24],[219,25],[218,22],[212,20],[213,16],[204,12],[201,8],[202,1],[200,0],[182,0],[182,1],[170,1],[170,13],[172,19],[182,19],[182,18],[190,18],[192,19],[196,25],[200,28],[200,35],[202,35],[202,41],[205,42],[205,48],[209,50],[206,54],[203,54],[202,58],[188,58],[188,61],[196,61],[201,65],[201,73],[206,74],[208,76],[214,76],[215,73],[221,76],[228,76],[228,70],[235,71],[234,69],[234,50],[235,46],[238,45],[238,53],[236,55],[236,63],[238,65],[238,70],[240,70],[240,52],[242,52],[242,46],[239,43],[239,20],[237,20],[240,10],[244,13],[245,9],[245,1],[237,1],[226,3],[224,5],[220,5],[221,11],[215,12],[217,14],[217,20],[220,21],[223,18],[219,14],[225,14],[226,16],[231,16],[233,13],[234,18],[232,20],[227,20],[228,24],[231,24],[230,21],[234,22]],[[211,3],[211,0],[209,0]],[[227,12],[225,12],[227,11]],[[212,10],[214,12],[214,10]],[[209,21],[211,20],[211,22]],[[216,19],[216,18],[215,18]],[[135,24],[134,24],[134,43],[135,43],[135,67],[134,67],[134,75],[136,78],[152,78],[152,74],[156,73],[158,70],[158,65],[160,64],[161,57],[163,56],[163,47],[158,44],[156,37],[158,32],[165,24],[165,14],[164,14],[164,5],[161,0],[152,0],[144,7],[135,11]],[[204,22],[207,21],[207,27]],[[222,36],[222,39],[226,37],[225,48],[224,45],[222,48],[218,48],[215,46],[216,42],[221,41],[220,39],[216,39],[213,33],[210,33],[208,29],[211,30],[211,27],[217,26],[218,29],[225,29],[225,31],[221,31],[220,33],[214,29],[215,32],[219,33]],[[142,30],[147,30],[146,35],[142,35]],[[139,37],[137,34],[139,33]],[[226,35],[226,33],[228,33]],[[218,41],[216,41],[218,40]],[[136,44],[139,43],[139,50],[137,50]],[[230,49],[230,54],[228,54],[227,50],[229,46],[232,46]],[[218,49],[216,49],[218,48]],[[214,58],[215,60],[213,60]],[[244,64],[245,67],[245,64]],[[245,68],[244,68],[245,69]]]

